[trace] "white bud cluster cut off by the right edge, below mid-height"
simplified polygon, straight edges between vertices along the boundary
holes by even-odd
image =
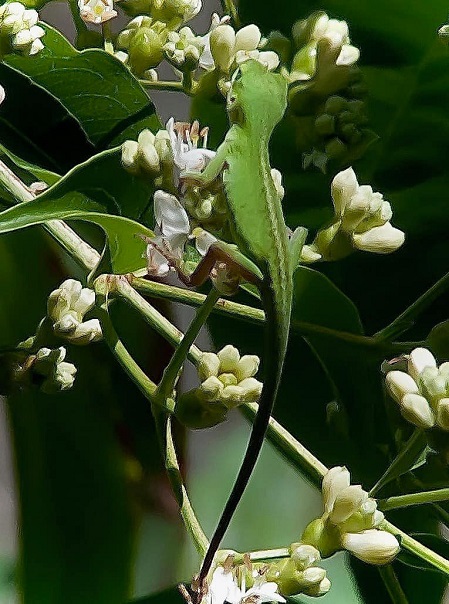
[[[449,363],[438,367],[429,350],[415,348],[407,372],[389,371],[386,384],[406,420],[423,429],[449,430]]]

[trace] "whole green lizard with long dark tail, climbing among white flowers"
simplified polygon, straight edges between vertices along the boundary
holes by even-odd
[[[271,176],[268,145],[286,106],[283,76],[254,60],[243,63],[227,98],[231,127],[216,156],[203,172],[181,173],[182,180],[198,186],[210,184],[222,173],[231,233],[240,252],[236,254],[226,244],[212,245],[191,275],[191,282],[204,280],[204,270],[209,271],[217,259],[241,266],[242,276],[259,288],[266,316],[266,371],[259,408],[236,482],[198,576],[199,601],[214,555],[259,456],[286,354],[292,277],[305,238],[305,229],[297,229],[289,239]],[[242,254],[249,261],[242,262]]]

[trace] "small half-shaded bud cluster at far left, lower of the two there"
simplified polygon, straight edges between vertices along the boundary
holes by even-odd
[[[75,381],[76,367],[64,360],[66,353],[63,346],[53,350],[40,348],[19,364],[15,372],[16,381],[30,381],[46,394],[68,390]]]

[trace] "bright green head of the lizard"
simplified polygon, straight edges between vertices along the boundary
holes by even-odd
[[[271,131],[287,107],[287,81],[253,59],[242,63],[232,76],[227,109],[232,123],[263,126]]]

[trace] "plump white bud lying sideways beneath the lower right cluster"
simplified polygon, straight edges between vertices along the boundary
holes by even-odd
[[[376,529],[360,533],[346,533],[343,547],[368,564],[389,564],[400,550],[398,540],[391,533]]]

